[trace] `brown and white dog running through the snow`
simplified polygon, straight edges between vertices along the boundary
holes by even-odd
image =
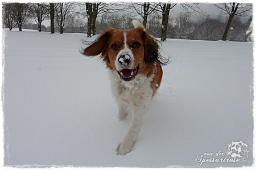
[[[142,119],[152,96],[158,90],[163,70],[163,58],[158,42],[137,20],[134,29],[127,31],[110,28],[84,50],[86,56],[98,56],[106,63],[118,118],[131,114],[130,128],[117,148],[118,155],[129,153],[137,141]]]

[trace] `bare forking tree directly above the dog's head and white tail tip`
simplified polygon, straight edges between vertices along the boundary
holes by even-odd
[[[152,14],[152,12],[156,12],[156,7],[158,4],[144,2],[144,3],[131,3],[134,10],[143,18],[143,26],[146,28],[148,15]]]

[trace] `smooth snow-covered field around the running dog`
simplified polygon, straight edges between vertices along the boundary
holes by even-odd
[[[79,53],[86,35],[14,30],[4,37],[5,167],[253,164],[251,42],[163,42],[172,62],[134,150],[119,156],[129,122],[117,119],[104,63]],[[228,144],[240,141],[248,156],[227,155]]]

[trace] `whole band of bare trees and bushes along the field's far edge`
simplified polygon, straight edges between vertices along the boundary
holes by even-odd
[[[224,4],[225,9],[230,7],[236,11],[233,13],[226,11],[228,15],[223,14],[218,18],[201,15],[196,21],[192,20],[192,14],[203,12],[200,11],[200,4],[181,3],[184,11],[176,18],[172,18],[169,13],[176,5],[177,3],[3,3],[3,25],[10,30],[15,27],[20,31],[22,28],[51,33],[56,30],[60,33],[86,33],[89,37],[100,34],[109,27],[130,29],[131,21],[137,19],[143,23],[147,32],[160,38],[161,41],[166,39],[252,41],[250,38],[252,30],[248,32],[253,19],[251,4],[243,6],[240,3]],[[222,9],[220,4],[215,6]],[[192,12],[189,12],[188,8],[193,9]],[[19,11],[22,11],[22,14],[19,14]],[[127,11],[134,12],[127,14]],[[241,17],[249,14],[251,16],[247,22],[241,22]],[[23,18],[19,19],[20,15],[24,15]],[[50,18],[51,25],[45,27],[42,24],[43,20]]]

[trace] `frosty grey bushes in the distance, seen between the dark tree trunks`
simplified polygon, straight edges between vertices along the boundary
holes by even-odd
[[[109,27],[116,29],[130,29],[133,27],[131,24],[131,20],[133,19],[134,18],[117,18],[114,15],[104,15],[96,21],[96,32],[101,33]],[[195,22],[191,20],[189,14],[181,12],[175,20],[168,23],[167,39],[221,40],[226,26],[226,20],[227,19],[210,18],[210,16],[206,16]],[[247,33],[251,20],[252,17],[250,17],[246,23],[242,23],[239,16],[234,18],[227,40],[251,41],[248,39],[250,35]],[[86,20],[83,19],[67,19],[65,32],[87,33],[86,24]],[[23,28],[38,30],[38,25],[33,24],[32,22],[27,22],[23,25]],[[150,16],[148,18],[146,30],[154,37],[161,37],[161,23],[158,16]],[[51,27],[42,25],[42,31],[50,32]],[[56,31],[59,32],[60,30],[56,27]]]

